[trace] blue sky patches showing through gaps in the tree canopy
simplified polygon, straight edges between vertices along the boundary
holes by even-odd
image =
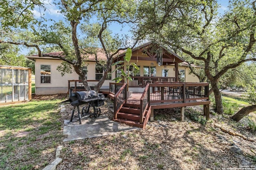
[[[218,9],[218,12],[220,14],[223,14],[224,11],[227,9],[227,6],[228,6],[228,0],[219,0],[218,3],[221,5],[221,7]],[[58,6],[55,6],[54,3],[53,3],[53,0],[49,0],[47,2],[47,5],[46,5],[46,10],[44,11],[42,8],[34,8],[34,10],[32,10],[34,16],[36,18],[40,18],[41,16],[43,16],[44,18],[46,19],[52,19],[52,20],[55,20],[55,21],[59,21],[59,20],[64,20],[64,16],[62,14],[60,14],[60,10],[58,8]],[[96,17],[93,17],[91,19],[92,22],[95,22],[97,21],[97,18]],[[50,21],[48,21],[48,23],[51,23]],[[118,33],[118,34],[130,34],[129,33],[129,27],[126,26],[126,27],[123,27],[118,24],[118,23],[112,23],[109,27],[109,29],[112,31],[113,35]],[[23,48],[21,50],[21,53],[24,54],[24,55],[27,55],[28,51],[30,49],[27,49],[26,47]]]

